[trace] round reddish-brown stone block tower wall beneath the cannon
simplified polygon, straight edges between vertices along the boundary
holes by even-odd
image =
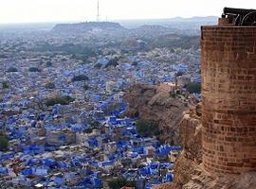
[[[256,171],[256,27],[202,26],[203,164]]]

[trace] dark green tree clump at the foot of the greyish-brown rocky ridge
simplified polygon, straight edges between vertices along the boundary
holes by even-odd
[[[160,134],[159,128],[155,123],[149,123],[142,119],[137,120],[137,132],[145,136],[158,136]]]

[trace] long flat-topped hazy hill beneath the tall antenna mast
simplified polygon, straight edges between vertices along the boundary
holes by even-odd
[[[84,32],[97,32],[106,30],[122,30],[124,27],[118,23],[110,22],[88,22],[78,24],[60,24],[53,27],[54,32],[72,32],[72,33],[84,33]]]

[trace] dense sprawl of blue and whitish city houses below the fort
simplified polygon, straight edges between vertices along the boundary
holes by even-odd
[[[0,152],[1,187],[105,188],[121,177],[151,188],[173,180],[181,147],[140,136],[135,119],[120,118],[127,108],[122,94],[137,82],[200,82],[199,52],[114,52],[86,62],[22,52],[0,59],[0,128],[9,139]],[[56,96],[72,100],[46,106]]]

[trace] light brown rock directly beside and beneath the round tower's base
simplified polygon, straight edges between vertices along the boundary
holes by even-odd
[[[155,189],[254,189],[256,172],[241,175],[210,174],[202,166],[201,105],[184,112],[180,124],[183,151],[174,165],[174,182]]]

